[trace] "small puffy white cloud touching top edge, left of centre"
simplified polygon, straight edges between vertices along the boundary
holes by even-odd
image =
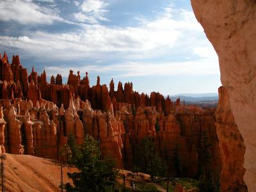
[[[105,8],[108,3],[102,0],[85,0],[81,4],[81,12],[74,13],[74,18],[79,22],[99,24],[102,20],[108,20],[104,15],[108,12]]]

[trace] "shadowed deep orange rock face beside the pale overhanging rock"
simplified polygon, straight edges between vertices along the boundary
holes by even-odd
[[[243,181],[245,172],[243,138],[231,113],[228,92],[223,86],[219,88],[219,103],[215,117],[222,162],[221,191],[236,191],[236,189],[247,191]]]

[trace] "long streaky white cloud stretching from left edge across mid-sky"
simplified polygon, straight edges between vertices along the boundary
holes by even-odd
[[[26,50],[51,58],[96,57],[101,53],[124,52],[143,54],[164,46],[174,46],[179,31],[148,28],[108,28],[101,25],[84,26],[81,33],[49,34],[37,31],[29,36],[0,36],[1,45]],[[54,50],[54,52],[52,52]],[[116,55],[115,55],[116,56]]]

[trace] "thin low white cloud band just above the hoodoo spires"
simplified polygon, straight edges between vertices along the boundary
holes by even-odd
[[[61,73],[62,77],[68,77],[70,68],[74,72],[97,72],[112,74],[113,77],[138,77],[138,76],[180,76],[180,75],[218,75],[219,66],[217,60],[198,59],[185,62],[170,63],[145,63],[126,62],[114,65],[84,65],[84,67],[52,66],[45,67],[47,76],[56,76]],[[118,75],[116,75],[118,74]]]

